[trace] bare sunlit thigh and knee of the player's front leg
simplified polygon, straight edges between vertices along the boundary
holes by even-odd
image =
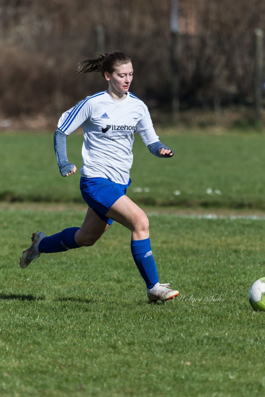
[[[149,229],[149,221],[145,212],[127,196],[118,198],[110,207],[106,216],[126,226],[131,231]]]

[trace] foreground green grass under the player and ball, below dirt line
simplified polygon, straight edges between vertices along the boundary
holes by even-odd
[[[265,276],[263,220],[150,215],[161,282],[181,292],[154,305],[118,224],[94,247],[19,268],[31,231],[83,217],[0,210],[1,397],[264,394],[265,314],[248,303]]]

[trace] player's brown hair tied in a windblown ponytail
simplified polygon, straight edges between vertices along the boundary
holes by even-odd
[[[105,72],[113,73],[117,66],[126,65],[131,62],[131,57],[122,51],[106,52],[105,54],[95,54],[93,59],[87,59],[78,64],[78,73]]]

